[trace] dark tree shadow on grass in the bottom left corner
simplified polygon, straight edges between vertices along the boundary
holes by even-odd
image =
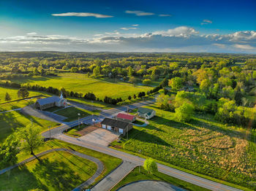
[[[37,177],[31,173],[26,165],[14,168],[0,175],[0,190],[48,190]]]

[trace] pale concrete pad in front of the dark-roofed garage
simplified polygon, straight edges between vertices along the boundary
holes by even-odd
[[[108,144],[118,139],[118,135],[110,130],[98,128],[85,136],[81,136],[79,139],[108,147]]]

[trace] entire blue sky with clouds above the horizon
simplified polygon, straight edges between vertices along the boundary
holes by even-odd
[[[0,0],[0,51],[256,53],[256,0]]]

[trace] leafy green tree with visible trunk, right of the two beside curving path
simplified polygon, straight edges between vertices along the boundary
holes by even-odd
[[[33,125],[28,125],[26,128],[20,128],[18,135],[22,141],[21,149],[29,151],[31,155],[34,155],[34,149],[43,144],[40,130]]]

